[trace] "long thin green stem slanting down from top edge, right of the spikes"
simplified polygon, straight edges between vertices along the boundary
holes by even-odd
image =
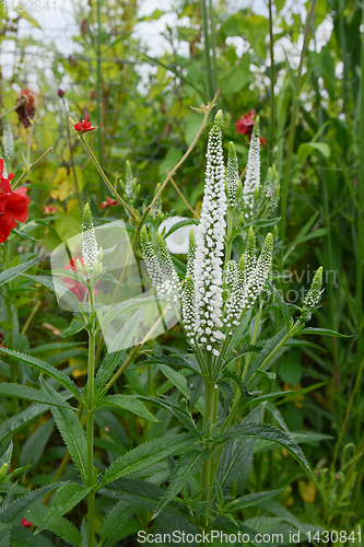
[[[297,69],[296,85],[295,85],[293,105],[292,105],[292,118],[291,118],[290,135],[289,135],[289,148],[287,148],[287,153],[286,153],[285,172],[284,172],[284,179],[283,179],[283,184],[282,184],[282,194],[281,194],[281,218],[282,218],[282,220],[281,220],[281,240],[283,242],[282,255],[281,255],[282,256],[282,268],[283,268],[284,241],[285,241],[285,228],[286,228],[287,196],[289,196],[289,185],[290,185],[290,178],[291,178],[291,164],[292,164],[294,135],[295,135],[295,130],[296,130],[296,118],[297,118],[297,112],[298,112],[302,69],[303,69],[305,53],[306,53],[306,48],[307,48],[308,34],[309,34],[309,28],[310,28],[310,22],[312,22],[313,15],[314,15],[315,5],[316,5],[316,0],[312,0],[310,10],[309,10],[306,25],[305,25],[304,43],[303,43],[302,51],[301,51],[301,59],[300,59],[300,66]]]

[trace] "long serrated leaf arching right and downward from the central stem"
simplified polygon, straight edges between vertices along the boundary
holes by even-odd
[[[290,435],[287,435],[280,429],[269,426],[268,423],[261,423],[259,426],[236,426],[235,428],[231,428],[224,433],[218,433],[214,439],[216,441],[221,440],[223,441],[223,444],[225,444],[233,439],[240,439],[246,437],[281,444],[304,465],[309,475],[315,479],[315,476],[310,470],[307,459],[305,458],[300,446],[292,441]]]

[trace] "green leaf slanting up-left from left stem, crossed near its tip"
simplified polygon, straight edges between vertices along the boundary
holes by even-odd
[[[46,393],[52,395],[55,399],[59,399],[60,395],[48,384],[46,384],[42,379],[42,386]],[[55,419],[56,426],[70,451],[71,457],[75,467],[81,473],[83,482],[87,484],[86,474],[86,461],[87,461],[87,449],[86,449],[86,437],[84,430],[80,423],[79,418],[71,409],[66,409],[61,407],[52,407],[51,414]],[[90,485],[91,486],[91,485]]]

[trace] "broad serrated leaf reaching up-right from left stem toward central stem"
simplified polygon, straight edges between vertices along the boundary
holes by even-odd
[[[155,464],[165,456],[186,451],[190,446],[190,440],[191,435],[189,433],[180,433],[178,435],[166,435],[163,439],[156,439],[137,446],[125,456],[119,457],[106,469],[101,486],[103,487],[120,477],[126,477],[131,473]]]

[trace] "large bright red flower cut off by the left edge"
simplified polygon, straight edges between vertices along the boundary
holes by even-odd
[[[0,243],[8,240],[10,232],[19,222],[25,222],[28,217],[27,206],[30,198],[26,196],[25,186],[11,189],[10,182],[14,178],[14,173],[10,173],[7,178],[3,174],[3,160],[0,159]]]

